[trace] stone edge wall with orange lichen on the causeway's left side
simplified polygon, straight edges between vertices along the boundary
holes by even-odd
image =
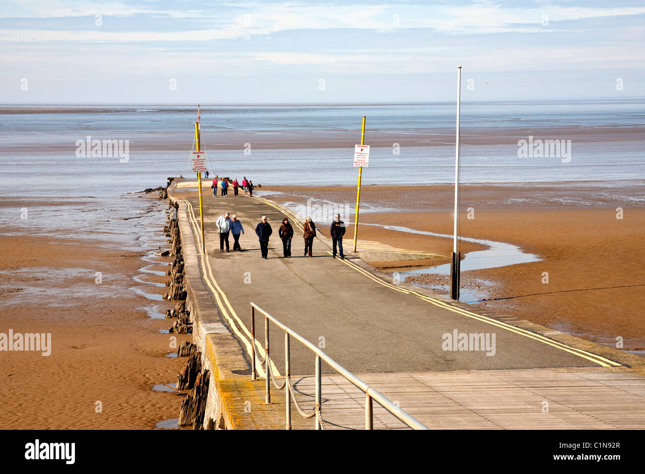
[[[250,357],[228,328],[202,279],[199,244],[188,221],[188,206],[173,192],[176,183],[177,179],[168,188],[168,197],[171,202],[179,204],[177,221],[183,242],[186,306],[190,309],[193,323],[193,341],[201,352],[201,373],[210,371],[203,428],[284,429],[284,419],[278,413],[261,409],[264,379],[251,380]],[[282,417],[283,411],[279,411]]]

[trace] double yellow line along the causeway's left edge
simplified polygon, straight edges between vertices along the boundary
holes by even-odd
[[[195,217],[193,206],[192,204],[190,204],[190,201],[188,201],[188,199],[184,199],[184,202],[187,206],[186,216],[188,217],[188,222],[190,223],[190,226],[193,230],[193,235],[195,236],[195,240],[197,241],[197,247],[204,248],[201,241],[199,222],[197,222],[197,217]],[[213,297],[215,297],[215,301],[217,301],[219,310],[222,311],[222,314],[226,318],[226,321],[228,321],[228,326],[231,328],[233,333],[237,335],[238,339],[244,344],[244,347],[246,347],[246,351],[248,352],[249,357],[255,357],[255,354],[253,353],[251,348],[251,331],[249,331],[242,320],[239,319],[237,313],[235,313],[235,310],[233,310],[233,306],[231,305],[230,301],[228,301],[226,293],[224,293],[224,291],[217,284],[217,280],[215,280],[215,277],[213,276],[213,269],[211,268],[210,262],[208,261],[208,255],[204,253],[199,253],[198,255],[201,261],[204,281],[206,282],[208,288],[210,288],[211,293],[213,293]],[[262,347],[262,344],[257,341],[257,339],[255,340],[255,347],[257,348],[257,351],[259,352],[261,357],[266,357],[264,348]],[[264,369],[260,364],[255,364],[255,368],[260,377],[266,377],[266,373],[264,372]],[[271,369],[275,375],[280,375],[277,367],[275,367],[275,365],[273,364],[273,360],[271,360]]]

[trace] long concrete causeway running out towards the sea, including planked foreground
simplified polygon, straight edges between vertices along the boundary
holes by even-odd
[[[645,428],[643,359],[392,281],[348,252],[349,235],[346,259],[332,259],[331,222],[316,222],[313,257],[304,257],[292,212],[243,193],[213,197],[210,181],[203,181],[201,255],[196,188],[175,179],[168,193],[179,202],[194,338],[212,370],[205,420],[284,427],[284,391],[272,388],[275,403],[264,405],[264,380],[250,380],[253,301],[429,428]],[[219,252],[215,222],[224,212],[244,226],[242,252],[233,252],[232,236],[231,252]],[[273,228],[266,260],[255,235],[262,215]],[[294,230],[291,258],[278,237],[284,217]],[[284,334],[273,326],[270,336],[282,374]],[[259,314],[255,337],[264,345]],[[302,376],[292,379],[305,410],[313,408],[314,357],[292,340],[292,374]],[[323,373],[326,428],[362,428],[364,395],[325,364]],[[374,415],[375,428],[406,428],[377,404]],[[292,423],[313,428],[295,408]]]

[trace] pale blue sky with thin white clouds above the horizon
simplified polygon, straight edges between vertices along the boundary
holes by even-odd
[[[0,103],[645,96],[642,1],[0,0]]]

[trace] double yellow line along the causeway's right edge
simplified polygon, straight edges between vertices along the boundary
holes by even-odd
[[[280,212],[284,213],[285,215],[288,215],[293,220],[293,222],[295,222],[295,224],[297,224],[297,226],[299,226],[301,229],[303,228],[303,226],[300,224],[300,222],[298,222],[297,217],[293,216],[291,213],[286,212],[284,209],[281,209],[278,206],[275,206],[271,202],[268,202],[268,201],[266,201],[264,199],[261,199],[261,198],[256,198],[256,199],[258,199],[259,201],[264,202],[265,204],[268,204],[269,206],[272,206],[273,208],[275,208],[275,209],[279,210]],[[327,253],[332,255],[332,252],[330,252],[329,250],[327,251]],[[382,281],[382,279],[380,279],[378,277],[375,277],[375,275],[373,275],[372,273],[368,272],[364,268],[361,268],[358,265],[356,265],[356,264],[354,264],[354,263],[352,263],[350,261],[341,260],[341,262],[346,264],[350,268],[353,268],[353,270],[355,270],[356,272],[362,273],[362,275],[368,277],[372,281],[377,282],[378,284],[386,286],[387,288],[390,288],[391,290],[399,291],[400,293],[406,293],[406,294],[414,295],[415,297],[417,297],[419,299],[422,299],[423,301],[428,302],[430,304],[433,304],[435,306],[438,306],[439,308],[443,308],[444,310],[452,311],[453,313],[461,314],[461,315],[464,315],[464,316],[469,317],[471,319],[476,319],[477,321],[486,322],[487,324],[491,324],[492,326],[497,326],[498,328],[501,328],[501,329],[506,330],[506,331],[513,332],[515,334],[518,334],[518,335],[521,335],[521,336],[524,336],[524,337],[528,337],[529,339],[533,339],[535,341],[543,342],[544,344],[547,344],[548,346],[551,346],[553,348],[556,348],[556,349],[559,349],[559,350],[562,350],[562,351],[566,351],[566,352],[571,353],[573,355],[577,355],[579,357],[582,357],[583,359],[587,359],[587,360],[590,360],[591,362],[595,362],[596,364],[599,364],[602,367],[611,367],[611,366],[617,367],[617,366],[622,365],[622,364],[619,364],[618,362],[614,362],[613,360],[606,359],[606,357],[602,357],[600,355],[596,355],[596,354],[593,354],[591,352],[588,352],[588,351],[585,351],[585,350],[582,350],[582,349],[572,348],[571,346],[567,346],[566,344],[563,344],[562,342],[554,341],[553,339],[550,339],[550,338],[548,338],[548,337],[546,337],[546,336],[544,336],[542,334],[535,333],[535,332],[525,330],[525,329],[522,329],[522,328],[517,328],[516,326],[511,326],[511,324],[508,324],[506,322],[497,321],[496,319],[492,319],[490,317],[486,317],[486,316],[483,316],[483,315],[478,315],[476,313],[473,313],[473,312],[468,311],[468,310],[464,310],[462,308],[457,308],[455,306],[452,306],[452,305],[448,304],[447,302],[444,302],[444,301],[441,301],[441,300],[438,300],[438,299],[435,299],[435,298],[431,298],[431,297],[429,297],[427,295],[423,295],[422,293],[419,293],[418,291],[405,290],[404,288],[399,288],[395,284],[392,284],[392,283],[389,283],[389,282],[386,282],[386,281]]]

